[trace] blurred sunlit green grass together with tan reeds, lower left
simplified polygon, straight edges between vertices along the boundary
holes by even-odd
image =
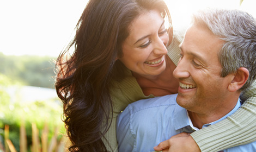
[[[0,73],[0,152],[67,151],[62,102],[58,98],[28,102],[20,93],[10,96],[8,86],[22,87]]]

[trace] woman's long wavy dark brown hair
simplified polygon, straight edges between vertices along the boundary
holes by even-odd
[[[63,101],[70,151],[107,151],[101,138],[111,125],[111,80],[121,72],[121,46],[142,11],[170,14],[162,0],[90,0],[76,35],[58,56],[56,90]],[[69,57],[69,50],[74,53]]]

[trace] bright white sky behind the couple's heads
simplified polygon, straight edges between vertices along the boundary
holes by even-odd
[[[5,55],[58,56],[74,36],[88,0],[0,1],[0,52]],[[175,27],[206,7],[242,9],[256,17],[256,0],[166,0]]]

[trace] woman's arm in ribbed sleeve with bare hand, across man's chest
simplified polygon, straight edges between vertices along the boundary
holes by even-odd
[[[188,148],[190,151],[213,152],[256,141],[256,81],[240,98],[246,101],[230,117],[194,131],[190,136],[185,133],[173,136],[154,149],[172,152],[187,151]],[[186,144],[182,144],[184,142]]]

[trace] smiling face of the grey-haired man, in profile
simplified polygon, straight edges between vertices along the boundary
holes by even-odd
[[[181,43],[181,57],[174,70],[179,79],[177,103],[187,110],[205,114],[221,106],[230,77],[222,78],[218,60],[223,40],[203,26],[188,28]]]

